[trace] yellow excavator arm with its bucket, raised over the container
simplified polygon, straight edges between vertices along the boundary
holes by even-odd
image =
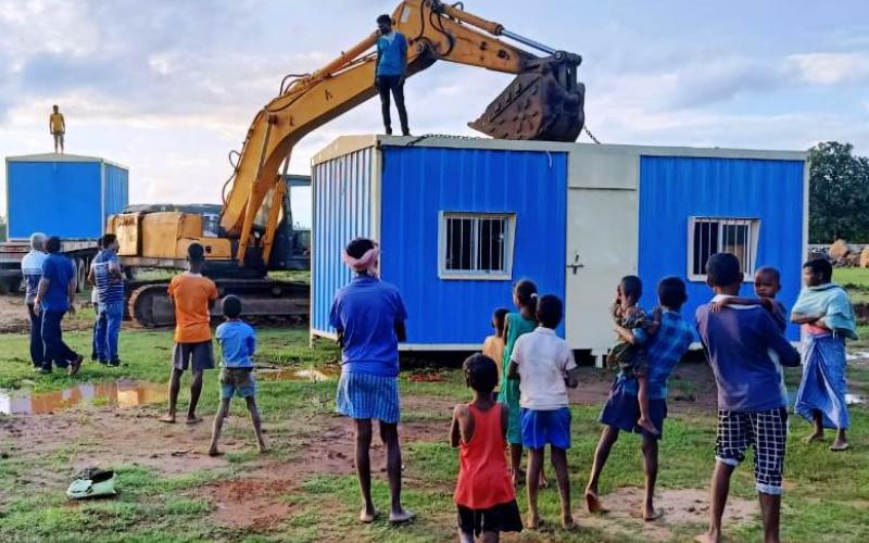
[[[487,112],[470,126],[507,139],[574,141],[583,124],[584,88],[576,79],[578,55],[554,51],[498,23],[439,0],[406,0],[393,13],[394,28],[407,38],[407,76],[443,60],[518,74]],[[547,53],[538,58],[498,38],[504,36]],[[378,34],[343,52],[319,71],[284,88],[253,119],[225,194],[221,227],[238,239],[236,258],[244,265],[251,243],[268,262],[284,186],[278,182],[293,146],[306,134],[375,97],[376,58],[369,50]],[[286,81],[286,79],[285,79]],[[253,238],[263,205],[264,233]]]

